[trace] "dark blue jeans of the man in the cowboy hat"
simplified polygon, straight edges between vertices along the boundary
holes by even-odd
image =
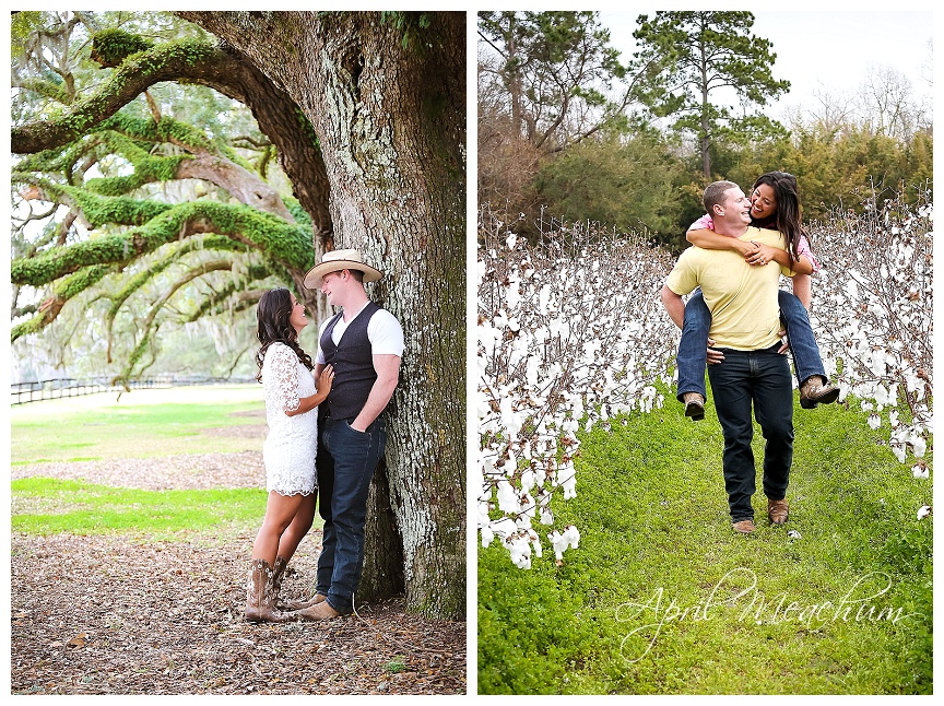
[[[318,509],[324,520],[315,590],[342,614],[354,610],[364,568],[367,493],[384,456],[387,432],[380,416],[365,432],[354,420],[326,417],[318,445]]]

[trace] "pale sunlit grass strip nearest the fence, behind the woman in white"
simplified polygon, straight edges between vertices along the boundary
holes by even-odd
[[[216,426],[264,424],[262,386],[133,390],[14,405],[13,466],[177,454],[261,450],[261,438],[202,434]]]

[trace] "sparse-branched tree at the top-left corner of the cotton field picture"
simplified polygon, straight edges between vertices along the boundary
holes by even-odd
[[[599,13],[479,13],[483,201],[528,210],[542,165],[601,133],[625,133],[652,62],[623,66]],[[543,196],[543,195],[542,195]]]

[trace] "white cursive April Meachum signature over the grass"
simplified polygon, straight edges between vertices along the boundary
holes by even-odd
[[[869,593],[863,584],[871,579],[885,579],[884,588]],[[780,623],[802,623],[807,629],[818,629],[830,622],[889,622],[893,625],[907,617],[924,617],[921,613],[901,614],[902,609],[890,607],[878,607],[875,599],[884,596],[892,588],[892,577],[882,572],[870,572],[857,579],[849,590],[838,602],[826,600],[821,603],[801,605],[796,601],[790,601],[787,591],[767,599],[757,590],[757,575],[750,568],[732,568],[721,577],[711,592],[704,601],[697,601],[691,605],[682,607],[674,598],[666,599],[665,591],[657,588],[645,603],[627,602],[616,608],[616,621],[620,623],[634,621],[644,616],[645,625],[630,631],[620,644],[620,652],[627,662],[637,662],[652,649],[662,628],[670,623],[683,621],[703,622],[709,621],[720,613],[723,607],[734,607],[739,602],[745,603],[738,620],[742,623],[755,624],[767,623],[778,625]],[[858,593],[862,592],[860,597]],[[720,598],[728,596],[728,598]],[[668,601],[668,602],[666,602]],[[651,621],[650,616],[651,615]],[[651,637],[645,643],[641,654],[633,649],[635,640],[627,647],[627,643],[637,635],[645,639],[646,634],[651,631]],[[629,652],[627,655],[627,651]]]

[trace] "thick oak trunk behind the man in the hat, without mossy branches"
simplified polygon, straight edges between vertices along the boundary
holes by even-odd
[[[223,38],[300,106],[327,167],[335,247],[361,249],[387,274],[371,294],[406,338],[386,478],[408,605],[462,616],[465,14],[426,13],[428,26],[409,13],[179,14]],[[373,492],[382,506],[378,475]],[[365,587],[396,590],[384,578],[391,543],[379,541],[377,523],[368,532]]]

